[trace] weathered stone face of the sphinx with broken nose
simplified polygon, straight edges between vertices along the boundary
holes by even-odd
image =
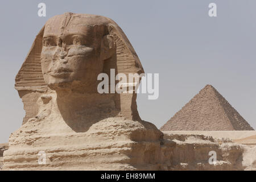
[[[93,26],[79,17],[55,16],[44,28],[41,65],[51,89],[90,86],[102,72],[102,25]]]

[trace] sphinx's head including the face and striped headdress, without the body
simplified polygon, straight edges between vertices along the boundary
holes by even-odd
[[[90,14],[53,16],[36,36],[15,78],[15,88],[24,97],[24,123],[35,117],[36,100],[42,94],[56,91],[59,98],[65,98],[66,93],[74,97],[98,94],[98,74],[106,73],[110,78],[110,69],[127,76],[144,72],[133,46],[117,23]],[[126,118],[139,118],[135,93],[108,94],[108,97]]]

